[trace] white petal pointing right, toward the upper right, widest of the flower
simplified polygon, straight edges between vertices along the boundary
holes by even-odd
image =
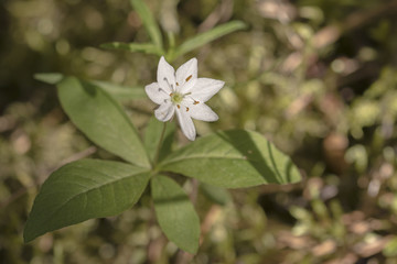
[[[218,92],[222,87],[225,85],[225,81],[210,79],[210,78],[198,78],[195,86],[192,88],[192,98],[200,102],[205,102],[210,100],[216,92]]]

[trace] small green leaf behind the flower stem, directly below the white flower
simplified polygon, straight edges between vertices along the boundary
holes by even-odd
[[[171,146],[175,134],[175,123],[174,122],[160,122],[155,117],[152,117],[149,120],[146,133],[144,133],[144,147],[148,152],[151,161],[154,161],[157,148],[160,142],[162,130],[165,128],[164,138],[159,151],[158,161],[163,160],[168,154],[171,153]]]

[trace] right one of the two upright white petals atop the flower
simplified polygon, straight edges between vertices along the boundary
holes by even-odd
[[[176,84],[180,92],[185,94],[197,79],[197,59],[192,58],[176,69]]]

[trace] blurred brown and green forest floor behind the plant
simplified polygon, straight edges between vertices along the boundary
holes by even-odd
[[[146,2],[176,44],[230,20],[248,25],[173,65],[195,56],[201,77],[226,81],[210,101],[219,121],[196,122],[198,134],[256,130],[291,155],[304,180],[200,191],[195,256],[163,237],[148,196],[118,217],[24,244],[24,222],[51,172],[86,156],[111,158],[33,75],[143,88],[155,81],[158,57],[99,48],[149,40],[128,0],[2,0],[0,263],[397,263],[397,1]],[[142,132],[154,108],[148,102],[122,101]]]

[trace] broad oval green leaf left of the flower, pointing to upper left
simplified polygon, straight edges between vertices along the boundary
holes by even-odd
[[[141,167],[150,167],[139,135],[122,110],[107,92],[74,77],[58,85],[63,109],[89,140]]]

